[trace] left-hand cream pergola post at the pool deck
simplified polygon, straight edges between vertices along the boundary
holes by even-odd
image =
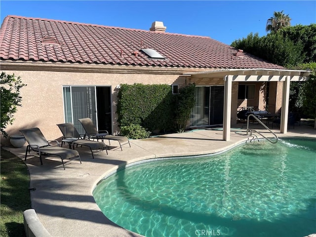
[[[223,140],[231,139],[232,76],[224,77]]]

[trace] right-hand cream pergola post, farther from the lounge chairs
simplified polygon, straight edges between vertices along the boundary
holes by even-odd
[[[281,124],[280,132],[287,133],[287,120],[288,120],[288,104],[290,98],[290,76],[285,78],[283,81],[283,92],[282,92],[282,109],[281,109]]]

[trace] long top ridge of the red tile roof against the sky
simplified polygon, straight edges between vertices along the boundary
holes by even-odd
[[[65,21],[65,20],[54,20],[54,19],[46,19],[46,18],[40,18],[40,17],[27,17],[27,16],[7,15],[4,19],[10,18],[10,17],[11,18],[19,18],[19,19],[30,19],[30,20],[60,22],[60,23],[76,24],[76,25],[83,25],[83,26],[96,26],[96,27],[110,28],[110,29],[121,29],[121,30],[129,30],[129,31],[149,32],[151,34],[178,35],[178,36],[186,36],[186,37],[197,37],[197,38],[211,39],[208,36],[195,36],[195,35],[186,35],[186,34],[169,33],[169,32],[155,32],[155,31],[142,30],[142,29],[133,29],[133,28],[118,27],[118,26],[104,26],[104,25],[99,25],[99,24],[81,23],[81,22]],[[4,20],[3,20],[3,22],[4,22]]]

